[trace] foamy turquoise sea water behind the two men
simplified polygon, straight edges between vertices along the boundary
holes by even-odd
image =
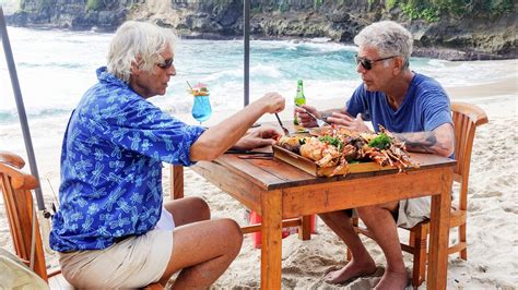
[[[45,31],[8,27],[23,101],[36,153],[58,162],[59,146],[68,117],[83,93],[96,82],[95,70],[105,65],[113,34],[93,32]],[[267,92],[279,92],[291,100],[296,81],[304,80],[307,104],[342,98],[342,106],[361,84],[351,45],[307,40],[252,40],[250,43],[250,101]],[[164,110],[198,123],[190,114],[192,95],[187,83],[204,83],[210,89],[213,117],[219,121],[244,106],[244,45],[236,40],[180,39],[175,48],[177,75],[170,78],[165,96],[150,99]],[[480,70],[470,62],[449,62],[412,58],[411,68],[438,80],[444,86],[492,82],[498,67]],[[286,116],[291,116],[286,113]],[[0,150],[24,155],[24,144],[16,105],[3,51],[0,56]],[[58,167],[57,165],[55,165]]]

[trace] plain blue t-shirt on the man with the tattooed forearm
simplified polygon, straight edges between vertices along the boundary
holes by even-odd
[[[434,78],[414,73],[401,106],[393,110],[381,92],[368,92],[360,85],[346,102],[346,111],[372,121],[374,130],[381,124],[390,132],[433,131],[444,123],[451,123],[450,101],[446,92]]]

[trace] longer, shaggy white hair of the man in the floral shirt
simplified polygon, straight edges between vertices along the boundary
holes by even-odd
[[[157,25],[127,21],[115,33],[109,45],[107,70],[125,83],[129,82],[131,62],[151,72],[156,62],[164,61],[162,53],[167,47],[174,50],[176,35],[172,29]]]

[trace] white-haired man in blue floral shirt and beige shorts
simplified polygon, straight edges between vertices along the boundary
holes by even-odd
[[[164,95],[176,74],[174,40],[170,29],[122,24],[107,68],[97,70],[98,83],[70,118],[50,244],[75,287],[165,285],[181,269],[175,287],[207,288],[239,253],[239,226],[210,220],[201,198],[163,204],[162,162],[190,166],[229,147],[272,144],[274,130],[248,129],[263,113],[283,110],[284,98],[266,94],[208,130],[162,112],[146,99]],[[169,226],[160,229],[158,221]]]

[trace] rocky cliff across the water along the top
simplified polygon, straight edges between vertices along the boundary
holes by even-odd
[[[251,0],[250,33],[257,38],[327,37],[349,44],[365,25],[395,20],[414,35],[415,56],[450,60],[518,57],[517,1],[499,0],[507,3],[497,7],[506,8],[503,11],[479,9],[469,14],[433,14],[429,9],[420,12],[395,2]],[[243,35],[243,0],[21,0],[21,11],[8,16],[8,23],[113,31],[130,19],[154,21],[184,37],[234,38]]]

